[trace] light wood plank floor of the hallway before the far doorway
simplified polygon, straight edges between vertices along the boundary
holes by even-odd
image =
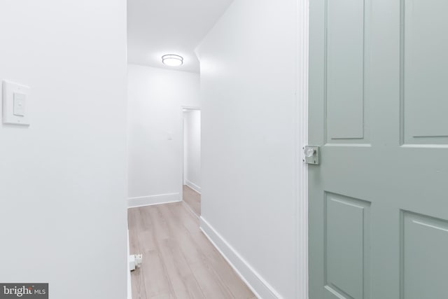
[[[199,229],[184,202],[128,210],[132,298],[255,298]]]

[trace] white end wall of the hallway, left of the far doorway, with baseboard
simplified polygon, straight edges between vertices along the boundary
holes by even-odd
[[[180,200],[182,106],[200,106],[199,75],[129,64],[128,101],[130,205]]]

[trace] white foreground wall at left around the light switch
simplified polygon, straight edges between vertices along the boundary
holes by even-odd
[[[0,1],[0,36],[31,87],[31,125],[0,124],[0,281],[123,299],[126,1]]]

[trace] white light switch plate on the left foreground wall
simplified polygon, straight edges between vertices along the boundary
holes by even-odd
[[[29,125],[29,87],[3,81],[3,123]]]

